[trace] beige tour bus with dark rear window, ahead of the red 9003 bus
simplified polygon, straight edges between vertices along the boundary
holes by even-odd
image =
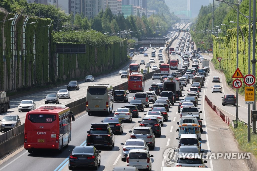
[[[95,84],[87,88],[86,111],[94,113],[112,113],[114,90],[110,84]]]

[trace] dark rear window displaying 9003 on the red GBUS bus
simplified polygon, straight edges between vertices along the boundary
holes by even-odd
[[[52,123],[56,120],[56,116],[49,114],[33,114],[29,115],[28,119],[33,123]]]

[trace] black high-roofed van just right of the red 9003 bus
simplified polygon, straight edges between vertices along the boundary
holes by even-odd
[[[102,146],[113,149],[114,134],[108,123],[92,123],[87,133],[87,146]]]

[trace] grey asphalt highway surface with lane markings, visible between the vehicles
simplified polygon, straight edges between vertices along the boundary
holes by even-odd
[[[180,37],[182,33],[180,33]],[[175,40],[172,44],[177,45],[178,40]],[[142,54],[135,55],[132,62],[139,63],[140,60],[145,60],[148,62],[148,60],[151,58],[151,50],[147,51],[149,54],[148,57],[143,57]],[[207,55],[203,55],[205,58],[211,58]],[[180,61],[181,58],[178,55],[170,56],[170,58],[177,58]],[[167,56],[165,58],[167,60]],[[155,60],[158,64],[158,59]],[[191,62],[191,61],[190,61]],[[180,62],[181,63],[181,62]],[[141,68],[144,69],[144,65],[141,65]],[[124,68],[125,70],[127,67]],[[217,71],[214,70],[214,67],[210,65],[210,73],[206,77],[205,86],[203,87],[202,91],[200,92],[200,98],[199,98],[199,104],[198,108],[203,113],[201,114],[201,118],[203,118],[203,129],[204,132],[201,135],[202,138],[202,149],[207,153],[209,151],[216,151],[216,152],[225,152],[228,151],[227,146],[230,146],[230,144],[227,144],[227,141],[224,141],[223,139],[223,129],[227,129],[226,124],[224,122],[220,122],[219,118],[211,117],[211,114],[208,113],[208,108],[206,106],[206,103],[204,103],[204,96],[207,95],[211,101],[213,101],[215,104],[217,103],[217,106],[221,106],[221,96],[223,93],[211,93],[211,85],[219,84],[219,83],[212,83],[212,76],[216,76],[218,74]],[[221,75],[222,80],[224,79],[224,76]],[[112,82],[112,85],[115,86],[115,84],[120,84],[127,81],[127,79],[121,79],[118,72],[107,74],[101,77],[95,78],[95,82],[85,83],[80,82],[80,90],[79,91],[71,91],[71,99],[61,99],[60,104],[67,104],[71,100],[76,100],[78,98],[86,96],[86,90],[87,87],[96,83],[110,83]],[[145,91],[148,90],[148,88],[153,83],[158,83],[158,80],[146,80],[145,82]],[[225,82],[221,82],[220,84],[223,84],[225,86]],[[191,84],[191,81],[190,81]],[[188,84],[187,87],[184,87],[183,95],[186,93],[187,88],[190,86]],[[223,91],[226,90],[226,86],[223,86]],[[23,97],[19,99],[12,100],[11,102],[11,108],[13,111],[9,111],[8,114],[19,114],[20,118],[22,119],[22,123],[24,123],[24,117],[25,113],[18,113],[17,106],[18,102],[20,102],[23,99],[34,99],[36,101],[37,106],[43,105],[44,102],[44,96],[48,93],[56,92],[61,88],[66,88],[66,86],[58,87],[55,89],[51,89],[48,91],[44,91],[38,94],[34,94],[33,96],[29,97]],[[130,101],[133,98],[134,93],[129,93],[129,100]],[[219,98],[219,99],[218,99]],[[180,100],[182,97],[180,97]],[[218,99],[218,100],[217,100]],[[116,102],[114,106],[114,110],[116,108],[120,108],[124,106],[126,103],[123,102]],[[179,114],[177,113],[178,110],[178,104],[179,101],[175,103],[174,106],[170,106],[170,111],[168,112],[169,118],[168,122],[164,122],[164,125],[162,127],[162,135],[160,138],[155,139],[155,148],[154,150],[150,150],[150,154],[152,154],[154,157],[152,157],[152,170],[159,171],[161,166],[173,166],[167,165],[165,161],[163,160],[163,152],[170,147],[177,147],[178,146],[178,140],[175,138],[178,137],[178,133],[176,132],[176,129],[178,128],[177,121],[179,121]],[[129,130],[133,130],[135,126],[138,126],[139,123],[137,121],[141,120],[143,118],[143,114],[149,111],[151,109],[152,104],[150,104],[150,107],[144,108],[144,112],[139,113],[138,118],[133,118],[132,123],[125,123],[124,124],[124,133],[122,135],[115,135],[115,147],[113,150],[108,150],[104,148],[99,148],[99,150],[102,150],[101,154],[101,166],[98,167],[98,170],[112,170],[115,166],[125,166],[125,162],[121,161],[121,150],[122,145],[120,143],[124,143],[126,139],[129,139],[130,133],[128,133]],[[223,106],[221,106],[223,107]],[[225,106],[224,109],[227,109],[227,111],[233,112],[233,109],[235,107],[233,106]],[[240,109],[242,107],[240,106]],[[233,114],[233,113],[232,113]],[[109,115],[113,116],[113,114]],[[1,116],[2,117],[2,116]],[[108,117],[107,115],[87,115],[87,112],[82,112],[79,115],[76,116],[75,122],[72,122],[72,138],[71,142],[68,146],[68,148],[65,148],[62,152],[62,154],[53,153],[52,151],[44,151],[42,153],[36,153],[36,154],[29,154],[27,150],[25,150],[23,147],[16,150],[11,155],[7,156],[3,160],[0,161],[0,170],[68,170],[68,156],[70,154],[69,150],[73,149],[75,146],[79,145],[85,145],[86,144],[86,137],[88,131],[90,129],[90,124],[93,122],[100,122],[105,117]],[[217,116],[218,117],[218,116]],[[232,145],[232,144],[231,144]],[[234,149],[237,151],[237,149]],[[111,153],[110,153],[111,152]],[[207,159],[208,163],[206,164],[207,167],[212,167],[214,170],[247,170],[245,166],[242,164],[241,161],[231,161],[231,160],[214,160],[214,159]],[[236,163],[235,163],[236,162]],[[240,163],[241,162],[241,163]]]

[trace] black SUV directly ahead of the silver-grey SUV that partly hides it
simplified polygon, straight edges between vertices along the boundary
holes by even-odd
[[[142,121],[138,121],[140,127],[151,127],[156,137],[161,137],[161,123],[155,117],[145,116]]]

